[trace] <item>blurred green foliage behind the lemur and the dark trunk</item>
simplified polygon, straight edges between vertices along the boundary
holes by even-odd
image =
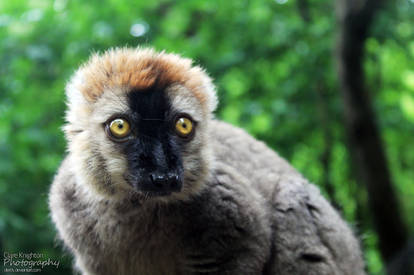
[[[64,86],[94,51],[150,45],[215,79],[217,116],[246,129],[323,190],[358,232],[368,270],[384,264],[347,149],[334,58],[335,3],[309,0],[0,1],[0,249],[71,258],[47,193],[65,154]],[[403,218],[414,235],[414,1],[382,9],[364,68]],[[3,254],[3,253],[2,253]],[[0,271],[1,272],[1,271]]]

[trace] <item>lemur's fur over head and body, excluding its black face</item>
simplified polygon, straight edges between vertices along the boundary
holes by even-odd
[[[173,79],[172,105],[197,121],[181,152],[183,189],[166,197],[132,189],[127,160],[102,127],[128,111],[130,82],[151,77]],[[265,144],[212,118],[214,86],[191,61],[113,49],[82,66],[67,95],[69,154],[49,207],[82,274],[364,274],[356,238],[318,189]]]

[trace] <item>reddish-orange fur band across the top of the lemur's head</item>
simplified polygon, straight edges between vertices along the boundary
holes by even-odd
[[[208,76],[190,59],[175,54],[157,53],[152,49],[112,49],[95,54],[80,69],[83,81],[79,90],[91,102],[96,101],[105,88],[126,87],[139,90],[157,85],[168,87],[180,84],[189,89],[204,104],[202,91]]]

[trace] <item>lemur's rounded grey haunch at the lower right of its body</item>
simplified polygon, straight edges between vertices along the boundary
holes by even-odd
[[[316,186],[285,177],[271,204],[277,251],[272,269],[280,274],[364,274],[358,240]]]

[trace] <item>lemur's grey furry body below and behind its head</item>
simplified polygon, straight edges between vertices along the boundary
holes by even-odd
[[[244,131],[211,128],[214,173],[188,201],[88,203],[67,156],[50,208],[84,274],[364,274],[316,187]]]

